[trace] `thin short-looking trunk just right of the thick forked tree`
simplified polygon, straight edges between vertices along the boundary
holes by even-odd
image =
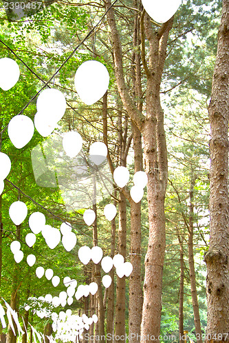
[[[179,276],[179,343],[184,343],[184,250],[183,250],[183,239],[179,233],[177,235],[179,240],[179,265],[180,265],[180,276]]]

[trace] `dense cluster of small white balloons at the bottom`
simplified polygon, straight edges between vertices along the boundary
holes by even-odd
[[[52,329],[56,332],[56,340],[62,342],[76,342],[76,337],[83,338],[82,334],[84,329],[89,330],[91,324],[98,322],[98,316],[94,314],[87,317],[83,314],[82,317],[72,315],[72,311],[67,309],[66,312],[61,311],[59,314],[55,312],[52,314]]]

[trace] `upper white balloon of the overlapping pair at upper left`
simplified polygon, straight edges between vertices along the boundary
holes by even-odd
[[[36,108],[41,112],[48,113],[49,117],[57,123],[65,114],[66,100],[61,91],[54,88],[45,89],[37,98]]]

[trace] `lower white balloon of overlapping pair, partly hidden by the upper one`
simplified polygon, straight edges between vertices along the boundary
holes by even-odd
[[[43,137],[50,136],[56,125],[57,123],[52,121],[46,112],[37,112],[34,115],[34,126]]]

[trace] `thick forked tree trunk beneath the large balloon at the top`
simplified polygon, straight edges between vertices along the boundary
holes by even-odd
[[[106,1],[106,8],[111,5]],[[154,338],[158,342],[162,311],[162,270],[165,251],[164,198],[167,184],[167,153],[164,134],[164,113],[160,106],[160,82],[166,59],[168,34],[173,19],[153,30],[151,19],[142,15],[142,64],[147,78],[146,116],[142,115],[129,95],[124,81],[122,45],[116,26],[113,9],[107,13],[111,39],[116,82],[120,97],[129,116],[138,126],[144,140],[146,173],[148,176],[149,245],[145,258],[144,302],[142,308],[141,342]],[[149,64],[144,51],[144,27],[149,40]],[[158,153],[157,153],[158,152]],[[154,336],[154,337],[153,337]]]

